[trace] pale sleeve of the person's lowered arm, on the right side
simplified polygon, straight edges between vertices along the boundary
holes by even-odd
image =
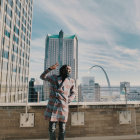
[[[70,103],[72,100],[74,100],[75,96],[76,96],[76,89],[75,89],[75,82],[73,80],[72,82],[72,86],[71,86],[71,89],[70,89],[70,95],[68,97],[68,102]]]

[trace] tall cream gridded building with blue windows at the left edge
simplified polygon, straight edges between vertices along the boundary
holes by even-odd
[[[33,0],[0,0],[0,102],[28,93]]]

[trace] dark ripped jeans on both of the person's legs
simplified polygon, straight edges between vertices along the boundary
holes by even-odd
[[[57,124],[57,122],[51,122],[51,121],[49,122],[49,137],[50,137],[50,140],[56,140],[56,136],[55,136],[56,124]],[[58,140],[64,140],[65,128],[66,128],[66,123],[65,122],[59,122],[59,137],[58,137]]]

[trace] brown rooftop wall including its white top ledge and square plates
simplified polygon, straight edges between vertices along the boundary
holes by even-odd
[[[125,103],[71,103],[66,140],[139,140],[140,102]],[[45,106],[46,103],[0,104],[0,139],[47,140]]]

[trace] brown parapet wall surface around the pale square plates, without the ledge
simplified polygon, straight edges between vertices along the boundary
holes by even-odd
[[[90,137],[140,134],[140,107],[135,105],[70,105],[66,137]],[[30,106],[35,114],[34,127],[20,127],[20,113],[25,106],[0,106],[0,139],[48,138],[45,106]],[[119,123],[119,111],[131,111],[131,123]],[[84,125],[71,125],[71,113],[84,112]],[[58,126],[57,126],[58,128]],[[57,129],[58,133],[58,129]]]

